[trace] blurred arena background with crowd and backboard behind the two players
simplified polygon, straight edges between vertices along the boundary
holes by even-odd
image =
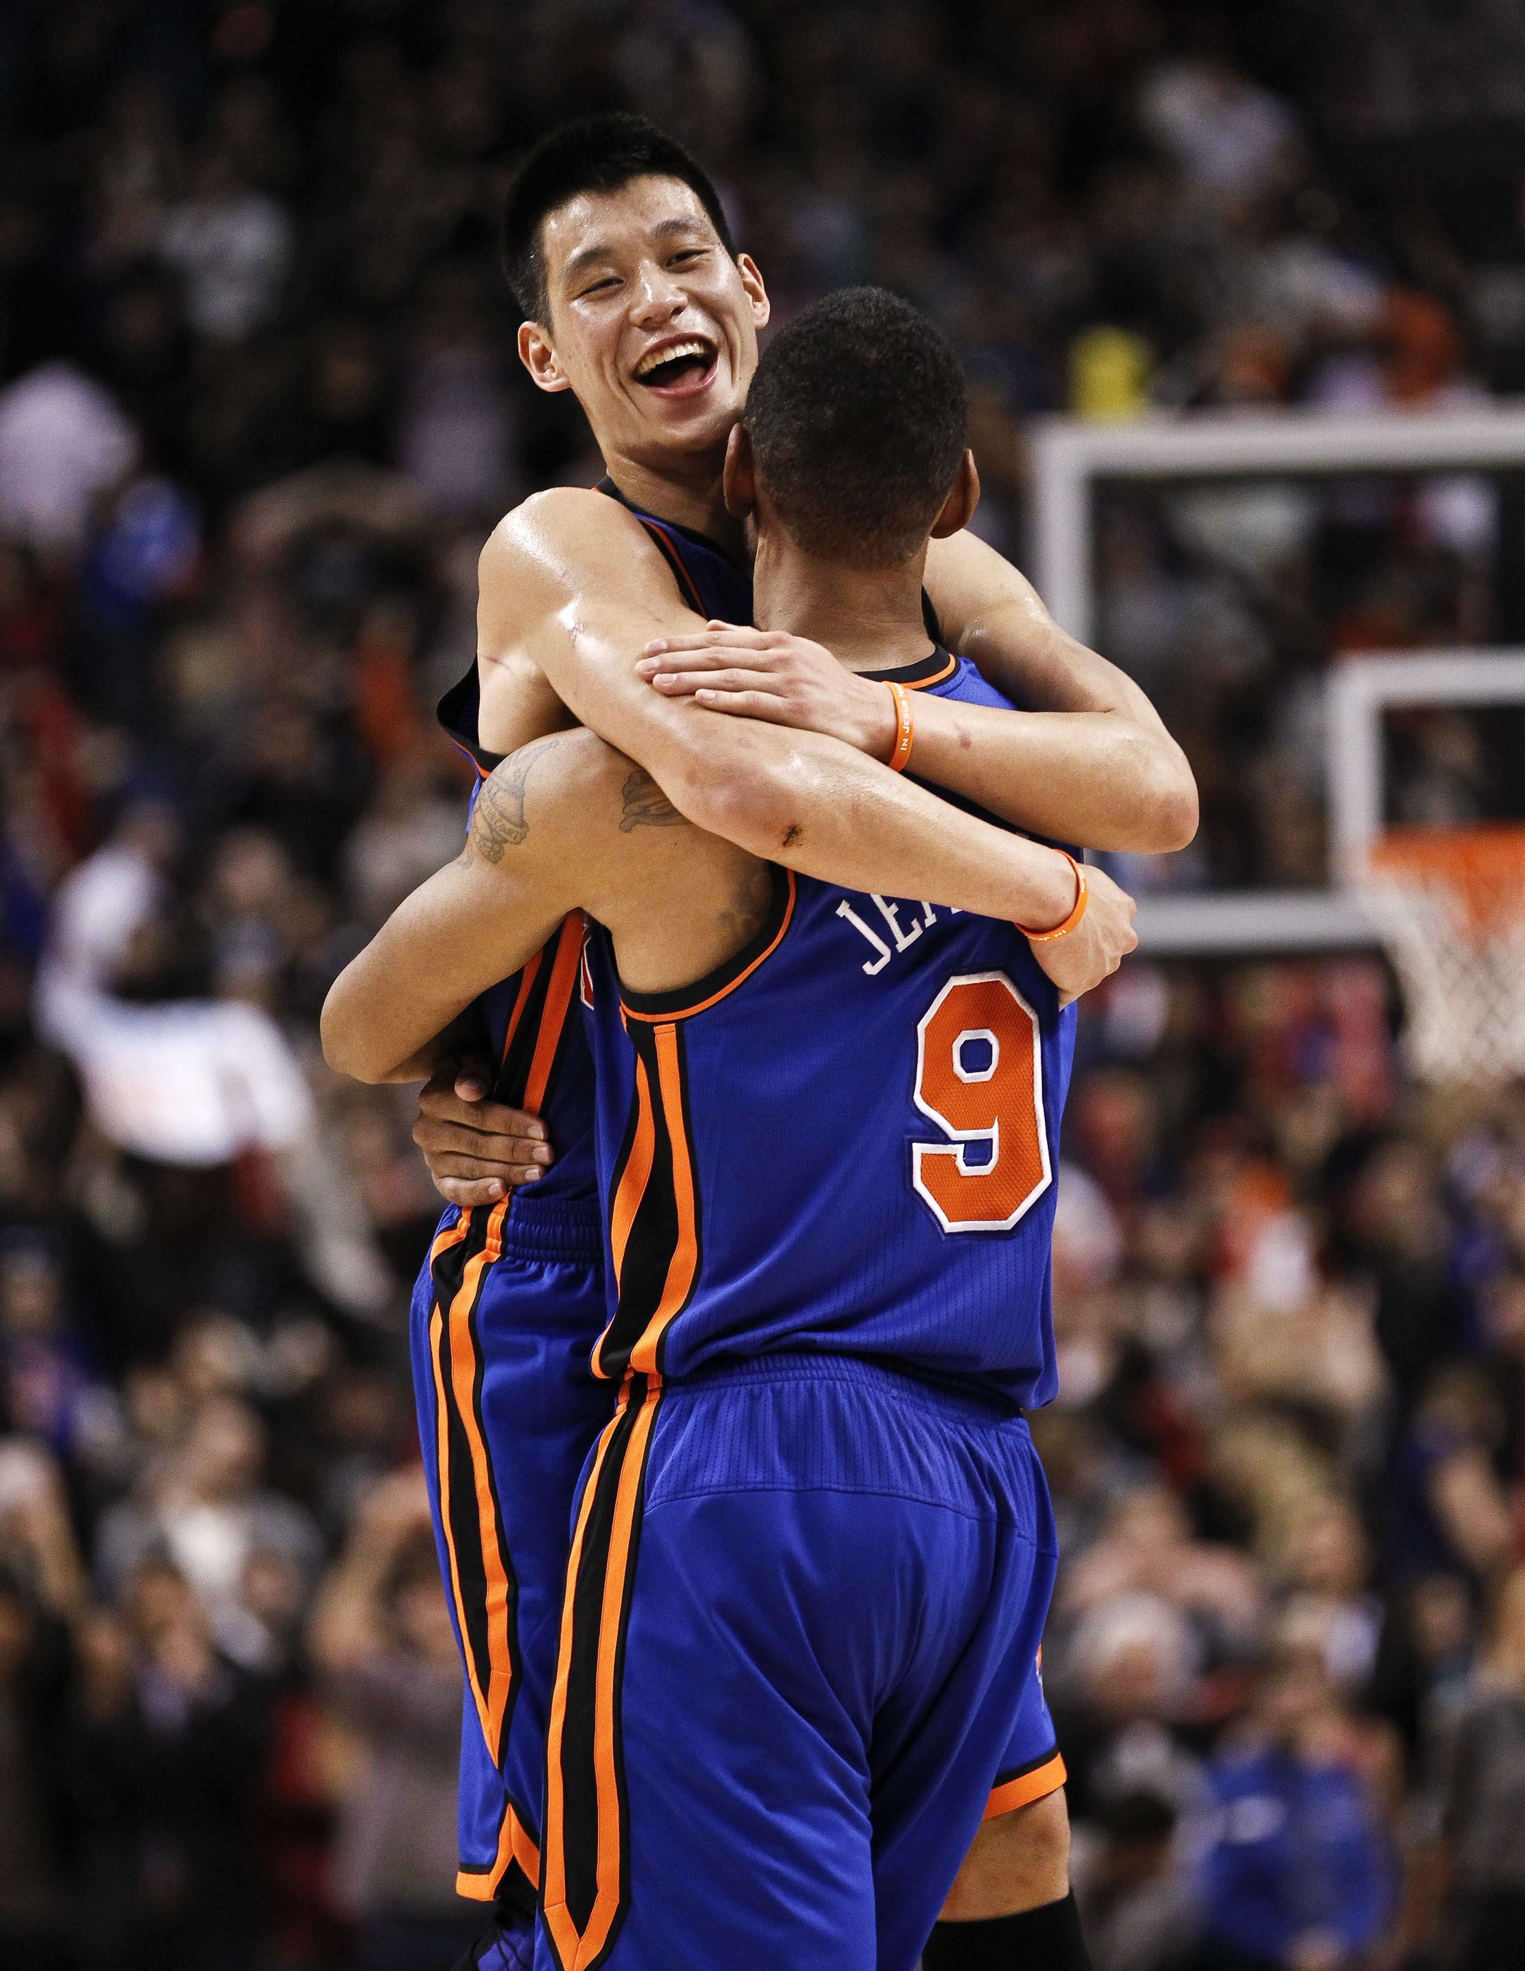
[[[0,97],[0,1961],[451,1961],[437,1200],[317,1009],[459,844],[489,526],[597,475],[514,361],[506,175],[634,106],[776,321],[875,280],[950,331],[975,526],[1202,788],[1117,859],[1034,1417],[1095,1963],[1243,1924],[1253,1756],[1271,1961],[1525,1963],[1525,684],[1446,656],[1326,747],[1354,652],[1525,643],[1525,14],[33,0]],[[1166,469],[1162,420],[1239,436]],[[1450,986],[1332,838],[1359,731],[1373,826],[1505,850]]]

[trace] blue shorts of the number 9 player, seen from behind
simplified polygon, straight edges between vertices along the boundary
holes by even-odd
[[[910,1971],[997,1788],[1062,1784],[1054,1557],[995,1397],[820,1354],[627,1378],[573,1528],[536,1971]]]

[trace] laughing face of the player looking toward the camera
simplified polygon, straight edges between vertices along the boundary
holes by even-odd
[[[725,455],[768,319],[762,276],[733,260],[676,177],[589,191],[542,225],[550,323],[518,353],[542,390],[573,390],[605,459],[648,471]]]

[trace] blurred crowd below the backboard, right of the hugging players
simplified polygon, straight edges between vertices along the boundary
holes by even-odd
[[[1082,1013],[1032,1431],[1117,1971],[1519,1961],[1525,1108],[1405,1086],[1395,1011],[1350,958]]]

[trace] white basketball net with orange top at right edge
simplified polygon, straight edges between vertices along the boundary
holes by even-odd
[[[1363,887],[1403,987],[1411,1072],[1525,1076],[1525,826],[1389,828]]]

